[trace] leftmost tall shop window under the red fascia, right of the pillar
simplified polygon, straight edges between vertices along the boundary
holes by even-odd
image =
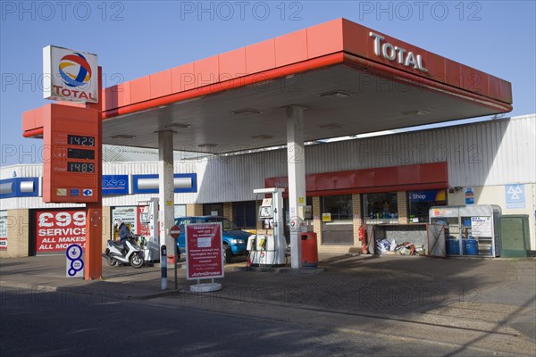
[[[322,244],[354,245],[352,195],[322,197]]]

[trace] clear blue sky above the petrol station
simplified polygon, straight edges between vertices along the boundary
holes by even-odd
[[[98,54],[105,87],[297,29],[347,18],[507,79],[510,115],[536,112],[534,1],[4,1],[1,165],[40,162],[21,113],[42,99],[42,49]]]

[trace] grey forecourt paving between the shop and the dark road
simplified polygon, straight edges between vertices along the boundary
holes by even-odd
[[[235,310],[233,304],[239,309],[272,305],[297,316],[328,314],[337,326],[358,319],[362,328],[382,334],[400,336],[400,328],[408,323],[413,336],[425,336],[431,327],[451,328],[449,339],[478,333],[472,343],[482,339],[480,344],[492,350],[508,351],[507,345],[515,345],[520,354],[536,353],[534,258],[320,254],[317,269],[263,271],[247,270],[245,258],[239,257],[225,265],[225,277],[217,279],[222,290],[215,293],[192,293],[190,286],[197,281],[185,278],[184,262],[177,270],[168,265],[167,288],[162,289],[160,264],[135,270],[103,261],[103,278],[88,281],[66,278],[64,255],[4,258],[0,292],[66,291],[81,300],[174,299],[185,305],[195,300],[197,308],[230,311]]]

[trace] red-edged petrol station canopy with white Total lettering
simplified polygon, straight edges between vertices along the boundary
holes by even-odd
[[[106,54],[101,54],[106,55]],[[483,59],[482,59],[483,60]],[[103,143],[230,153],[287,144],[284,107],[314,141],[512,110],[511,84],[337,19],[105,88]],[[38,116],[25,137],[41,137]]]

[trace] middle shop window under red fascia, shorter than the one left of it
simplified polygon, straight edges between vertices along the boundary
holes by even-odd
[[[363,215],[367,224],[398,223],[397,193],[364,194]]]

